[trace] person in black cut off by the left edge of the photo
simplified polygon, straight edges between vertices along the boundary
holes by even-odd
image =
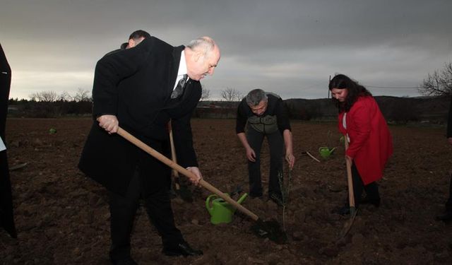
[[[5,126],[8,113],[8,96],[11,86],[11,68],[0,45],[0,141],[6,144]],[[3,149],[3,148],[2,148]],[[6,150],[0,149],[0,227],[11,237],[16,238],[16,226],[13,218],[13,199],[9,179],[8,158]]]

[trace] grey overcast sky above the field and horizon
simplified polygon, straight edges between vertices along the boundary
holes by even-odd
[[[177,46],[213,37],[211,98],[254,88],[326,98],[344,73],[374,95],[417,96],[452,61],[451,0],[1,0],[10,98],[91,90],[96,61],[142,29]]]

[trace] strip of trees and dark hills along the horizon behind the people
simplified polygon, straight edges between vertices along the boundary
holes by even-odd
[[[448,110],[447,97],[452,95],[452,63],[446,63],[443,69],[435,70],[424,78],[418,89],[428,98],[376,97],[380,108],[388,121],[397,123],[421,122],[423,120],[441,121]],[[203,87],[198,117],[234,117],[237,105],[244,93],[235,88],[221,90],[220,101],[208,101],[210,90]],[[447,96],[447,97],[446,97]],[[291,119],[316,120],[335,119],[337,110],[331,100],[317,99],[285,100]],[[79,88],[75,95],[57,94],[43,91],[30,95],[30,100],[10,99],[8,115],[18,117],[61,117],[67,115],[89,115],[93,107],[93,98],[88,90]],[[201,110],[202,109],[202,110]]]

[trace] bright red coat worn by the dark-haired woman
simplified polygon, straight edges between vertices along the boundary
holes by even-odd
[[[339,131],[350,137],[345,154],[353,158],[365,185],[381,179],[384,165],[393,154],[393,140],[379,105],[371,96],[359,97],[347,112],[347,129],[343,126],[344,113],[339,114]]]

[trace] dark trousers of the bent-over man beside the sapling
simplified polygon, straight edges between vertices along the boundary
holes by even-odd
[[[283,155],[284,155],[284,140],[280,131],[273,134],[263,134],[248,126],[246,130],[246,139],[249,146],[253,148],[256,153],[256,162],[248,160],[249,173],[249,194],[251,196],[262,195],[261,183],[261,146],[264,137],[267,137],[268,146],[270,147],[270,175],[268,177],[268,194],[281,194],[280,182],[278,179],[278,172],[283,171]]]

